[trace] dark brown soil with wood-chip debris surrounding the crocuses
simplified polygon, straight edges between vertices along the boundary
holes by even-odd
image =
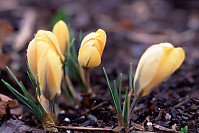
[[[124,94],[128,86],[129,64],[133,64],[134,75],[146,48],[170,42],[185,50],[185,61],[172,76],[138,102],[131,119],[139,125],[132,124],[132,131],[174,132],[172,129],[179,131],[188,126],[188,132],[199,132],[199,1],[1,0],[0,79],[19,90],[6,70],[5,66],[9,66],[34,94],[26,74],[26,49],[37,30],[52,29],[56,14],[61,11],[66,13],[65,19],[76,37],[80,30],[84,37],[102,28],[107,33],[107,43],[101,65],[90,71],[92,105],[67,106],[60,96],[59,126],[115,128],[117,118],[102,67],[106,68],[112,82],[114,79],[118,81],[119,74],[123,73]],[[21,33],[23,30],[25,34]],[[75,45],[78,49],[78,39]],[[76,81],[73,83],[78,92]],[[2,82],[0,88],[1,94],[16,99]],[[96,105],[98,107],[93,109]],[[14,114],[7,112],[0,117],[3,132],[45,132],[41,122],[23,104],[19,103],[18,114]],[[65,131],[60,129],[60,132]]]

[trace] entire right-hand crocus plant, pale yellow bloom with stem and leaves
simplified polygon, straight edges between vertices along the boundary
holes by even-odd
[[[132,104],[132,68],[129,73],[129,90],[126,89],[123,112],[121,111],[121,86],[122,79],[120,76],[119,92],[117,92],[116,82],[114,81],[114,91],[110,85],[105,68],[107,84],[116,109],[118,124],[127,128],[126,122],[130,121],[130,116],[138,100],[149,94],[155,86],[160,84],[164,79],[175,72],[185,59],[185,52],[182,48],[174,48],[170,43],[160,43],[149,47],[142,55],[134,78],[134,99]],[[122,114],[122,115],[121,115]]]

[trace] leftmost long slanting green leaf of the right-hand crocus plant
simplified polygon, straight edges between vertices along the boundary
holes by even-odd
[[[115,96],[114,96],[113,90],[112,90],[112,88],[111,88],[111,84],[110,84],[108,75],[107,75],[106,70],[105,70],[104,67],[103,67],[103,71],[104,71],[104,74],[105,74],[105,77],[106,77],[106,82],[107,82],[107,84],[108,84],[109,91],[110,91],[110,93],[111,93],[111,97],[112,97],[112,100],[113,100],[113,104],[114,104],[114,106],[115,106],[116,114],[120,114],[120,113],[119,113],[119,109],[118,109],[117,104],[116,104],[116,100],[115,100]]]

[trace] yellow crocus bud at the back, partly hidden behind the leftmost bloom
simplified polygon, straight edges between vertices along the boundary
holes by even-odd
[[[66,49],[70,45],[70,35],[66,23],[64,23],[62,20],[58,21],[53,27],[53,34],[59,41],[62,54],[65,55]]]

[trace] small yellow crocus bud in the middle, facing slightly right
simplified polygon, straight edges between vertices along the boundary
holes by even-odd
[[[79,49],[79,64],[85,68],[99,66],[105,43],[106,33],[102,29],[85,36]]]

